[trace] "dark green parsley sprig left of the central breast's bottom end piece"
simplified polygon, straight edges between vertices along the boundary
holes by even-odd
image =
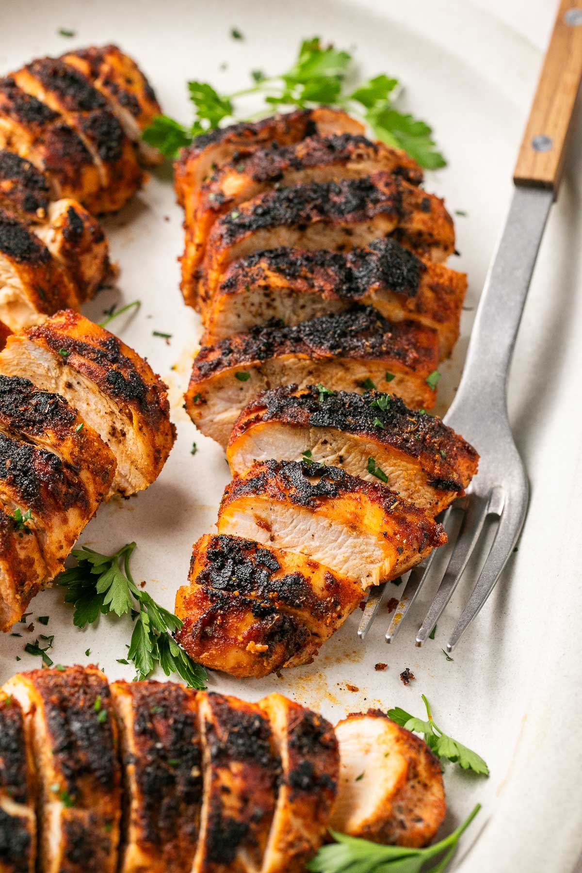
[[[181,628],[181,620],[136,586],[129,569],[134,549],[132,542],[113,554],[100,554],[87,546],[73,550],[77,567],[58,577],[58,584],[66,588],[65,603],[74,605],[73,624],[84,628],[101,613],[129,613],[134,631],[127,660],[134,663],[137,677],[147,678],[157,662],[166,676],[177,673],[190,688],[204,688],[206,670],[191,661],[172,636]]]

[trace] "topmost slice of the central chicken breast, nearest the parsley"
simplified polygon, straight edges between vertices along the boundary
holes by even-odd
[[[318,107],[271,115],[252,124],[240,122],[216,127],[197,136],[192,145],[182,148],[174,165],[174,184],[178,203],[183,206],[199,196],[202,182],[216,168],[271,142],[281,146],[304,140],[306,136],[364,133],[364,126],[339,109]]]

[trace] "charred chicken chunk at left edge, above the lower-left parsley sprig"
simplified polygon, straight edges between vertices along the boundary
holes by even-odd
[[[10,630],[64,569],[115,458],[62,397],[16,376],[0,376],[0,454],[0,630]]]

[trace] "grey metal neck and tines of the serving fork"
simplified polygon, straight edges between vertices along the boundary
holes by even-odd
[[[469,601],[448,640],[447,650],[452,651],[483,608],[524,525],[529,484],[511,434],[505,389],[551,200],[552,192],[544,189],[518,188],[513,195],[510,214],[476,313],[462,382],[444,419],[476,446],[481,455],[479,472],[467,494],[455,500],[443,514],[442,523],[449,539],[444,546],[449,553],[448,563],[435,560],[437,551],[412,570],[387,630],[388,643],[394,640],[427,581],[438,584],[438,588],[416,636],[416,644],[422,645],[430,636],[469,561],[474,562],[477,546],[483,542],[485,522],[491,519],[496,526],[494,539]],[[487,527],[489,529],[489,525]],[[444,557],[446,559],[447,555]],[[384,595],[381,591],[368,595],[359,627],[360,638],[366,636]]]

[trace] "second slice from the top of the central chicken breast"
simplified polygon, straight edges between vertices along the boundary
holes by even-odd
[[[194,275],[198,270],[216,220],[239,203],[263,194],[274,183],[287,186],[337,178],[362,179],[378,171],[402,175],[415,184],[422,180],[421,168],[406,153],[353,134],[312,136],[283,148],[273,142],[246,158],[237,157],[202,184],[195,211],[188,199],[184,204],[184,274]]]

